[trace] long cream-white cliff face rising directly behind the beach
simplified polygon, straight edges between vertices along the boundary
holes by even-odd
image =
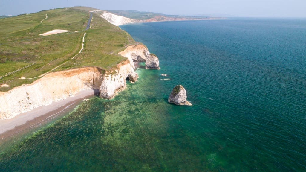
[[[95,67],[70,69],[49,73],[32,84],[0,92],[0,119],[13,118],[35,107],[73,96],[81,90],[99,89],[102,76],[101,69]]]

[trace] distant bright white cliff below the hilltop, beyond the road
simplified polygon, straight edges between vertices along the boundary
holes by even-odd
[[[119,26],[122,24],[140,22],[140,20],[130,19],[127,17],[118,16],[116,14],[107,13],[107,12],[102,13],[101,17],[116,26]]]

